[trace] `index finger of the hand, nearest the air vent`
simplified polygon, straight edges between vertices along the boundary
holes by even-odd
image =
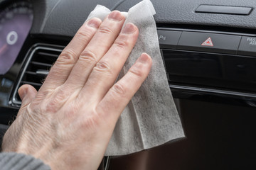
[[[95,35],[101,23],[102,21],[99,18],[92,18],[82,25],[73,40],[71,40],[68,46],[61,52],[58,60],[50,69],[48,77],[41,87],[42,90],[55,89],[64,84],[74,64],[78,61],[80,53],[85,49],[93,35]]]

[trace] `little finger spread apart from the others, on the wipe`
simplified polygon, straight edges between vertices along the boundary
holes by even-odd
[[[125,106],[146,79],[151,64],[151,57],[146,53],[142,54],[127,74],[112,86],[98,104],[97,113],[100,113],[111,125],[115,125]]]

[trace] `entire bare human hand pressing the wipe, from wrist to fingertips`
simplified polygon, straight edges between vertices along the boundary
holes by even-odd
[[[114,84],[139,31],[119,11],[78,30],[37,92],[18,90],[22,105],[4,136],[4,152],[31,154],[52,169],[97,169],[114,126],[151,69],[142,54]]]

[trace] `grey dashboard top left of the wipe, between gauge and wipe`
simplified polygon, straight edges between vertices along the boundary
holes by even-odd
[[[34,0],[31,33],[73,37],[97,4],[112,8],[120,0]]]

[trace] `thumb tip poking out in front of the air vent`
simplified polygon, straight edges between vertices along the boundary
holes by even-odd
[[[29,103],[31,103],[31,101],[33,100],[33,98],[36,97],[37,91],[36,89],[28,84],[24,84],[23,86],[21,86],[18,89],[18,95],[21,98],[21,108],[26,107]]]

